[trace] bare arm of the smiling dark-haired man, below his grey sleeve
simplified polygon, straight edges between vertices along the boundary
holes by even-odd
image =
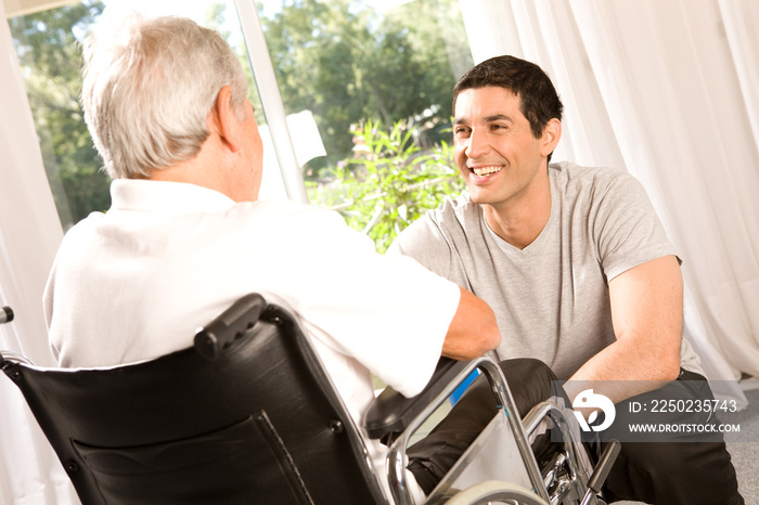
[[[617,403],[679,375],[683,280],[677,258],[666,256],[621,273],[609,282],[609,297],[617,340],[570,377],[565,389],[573,400],[593,387]],[[620,383],[603,383],[608,380]]]

